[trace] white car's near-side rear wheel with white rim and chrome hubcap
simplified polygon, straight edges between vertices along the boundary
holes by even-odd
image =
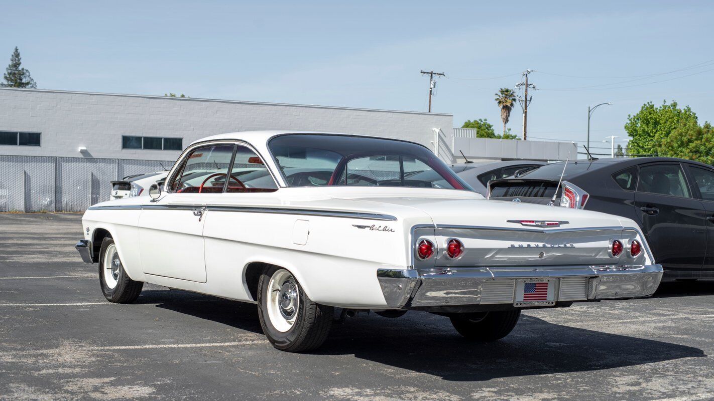
[[[327,339],[333,307],[311,301],[286,269],[268,267],[261,273],[257,301],[263,333],[278,350],[314,350]]]

